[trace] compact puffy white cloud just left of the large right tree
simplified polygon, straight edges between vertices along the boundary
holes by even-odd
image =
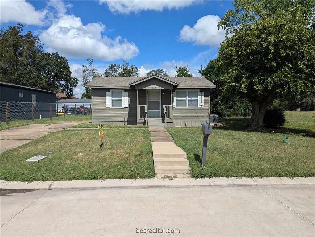
[[[219,16],[207,15],[200,18],[193,26],[185,25],[180,30],[180,40],[194,42],[194,45],[216,46],[224,40],[225,31],[218,30]]]

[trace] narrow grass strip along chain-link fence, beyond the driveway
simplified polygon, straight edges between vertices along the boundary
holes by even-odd
[[[66,118],[64,115],[57,115],[57,117],[53,117],[52,121],[50,118],[42,118],[42,119],[34,119],[34,123],[32,120],[20,120],[20,119],[12,119],[9,121],[9,125],[6,122],[0,123],[0,130],[5,130],[9,128],[19,127],[28,124],[67,124],[67,123],[90,123],[92,120],[92,115],[70,115],[66,114]]]

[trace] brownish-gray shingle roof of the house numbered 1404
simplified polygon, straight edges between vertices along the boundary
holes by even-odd
[[[169,77],[163,78],[157,75],[149,77],[96,77],[91,82],[86,84],[86,87],[98,88],[124,88],[130,89],[132,85],[141,83],[142,81],[158,78],[177,88],[214,88],[215,85],[205,77]]]

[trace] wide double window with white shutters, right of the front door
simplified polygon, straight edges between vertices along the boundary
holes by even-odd
[[[175,90],[173,107],[203,107],[203,91]]]

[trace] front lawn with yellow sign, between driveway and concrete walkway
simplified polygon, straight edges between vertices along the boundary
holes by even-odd
[[[61,130],[4,151],[0,177],[32,182],[155,176],[148,129],[107,129],[104,135],[102,148],[98,130]],[[48,157],[26,162],[35,155]]]

